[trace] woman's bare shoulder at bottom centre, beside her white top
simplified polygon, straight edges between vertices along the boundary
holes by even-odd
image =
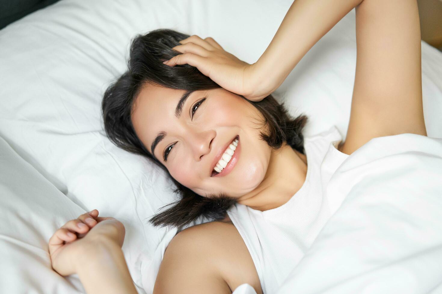
[[[154,293],[224,294],[243,283],[262,293],[247,246],[233,223],[225,219],[175,235],[164,253]]]

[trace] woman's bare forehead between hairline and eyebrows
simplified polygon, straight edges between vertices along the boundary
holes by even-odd
[[[131,119],[138,138],[149,151],[151,151],[150,144],[158,132],[170,130],[176,124],[178,120],[175,116],[176,104],[184,93],[185,90],[152,84],[144,85],[138,93],[133,104]],[[183,108],[183,112],[185,111]]]

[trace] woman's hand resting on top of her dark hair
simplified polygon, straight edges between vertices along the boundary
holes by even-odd
[[[255,64],[248,64],[226,52],[213,38],[202,39],[193,35],[179,43],[182,45],[172,49],[183,54],[166,60],[164,64],[194,66],[222,88],[251,101],[263,100],[270,94],[257,81],[259,74],[256,73]]]

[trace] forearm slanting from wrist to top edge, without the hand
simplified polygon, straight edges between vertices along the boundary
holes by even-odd
[[[255,63],[255,81],[272,93],[310,48],[361,2],[295,0],[270,45]]]

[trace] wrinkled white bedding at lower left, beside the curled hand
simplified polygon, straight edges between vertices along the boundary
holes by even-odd
[[[0,293],[84,293],[52,270],[54,228],[84,213],[0,137]]]

